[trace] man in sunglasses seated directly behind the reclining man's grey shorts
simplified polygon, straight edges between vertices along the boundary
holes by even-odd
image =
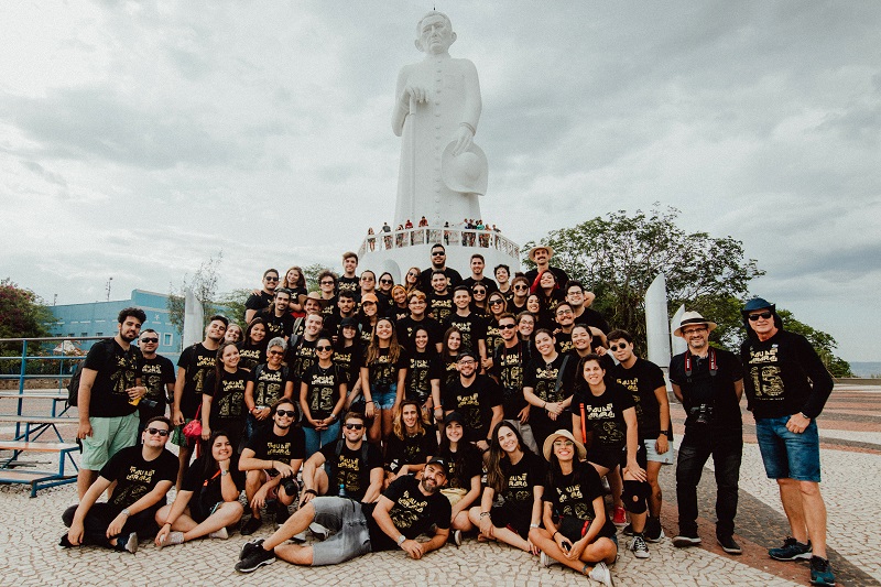
[[[365,441],[363,414],[349,412],[342,438],[326,444],[303,466],[301,506],[316,496],[337,496],[363,503],[379,498],[384,478],[382,453]]]

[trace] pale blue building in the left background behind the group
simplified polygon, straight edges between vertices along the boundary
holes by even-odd
[[[168,316],[167,302],[167,294],[134,290],[131,300],[51,306],[55,323],[50,325],[50,331],[53,336],[116,336],[119,312],[134,306],[146,314],[141,329],[152,328],[159,333],[156,352],[173,358],[181,352],[181,335]],[[85,340],[83,349],[87,350],[93,343]]]

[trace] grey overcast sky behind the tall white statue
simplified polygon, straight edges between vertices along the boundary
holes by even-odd
[[[326,263],[394,211],[432,2],[6,2],[0,278],[52,303]],[[881,4],[439,2],[477,65],[483,218],[525,242],[682,210],[753,293],[881,360]]]

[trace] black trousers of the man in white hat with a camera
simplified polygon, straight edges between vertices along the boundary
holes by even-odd
[[[686,427],[676,461],[676,502],[679,533],[697,535],[697,483],[704,465],[713,456],[716,468],[716,535],[735,533],[740,460],[743,455],[741,428],[707,430]]]

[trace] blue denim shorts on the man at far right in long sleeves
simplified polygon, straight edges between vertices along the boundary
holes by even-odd
[[[755,437],[769,479],[819,482],[819,433],[812,420],[801,434],[786,430],[790,416],[755,420]]]

